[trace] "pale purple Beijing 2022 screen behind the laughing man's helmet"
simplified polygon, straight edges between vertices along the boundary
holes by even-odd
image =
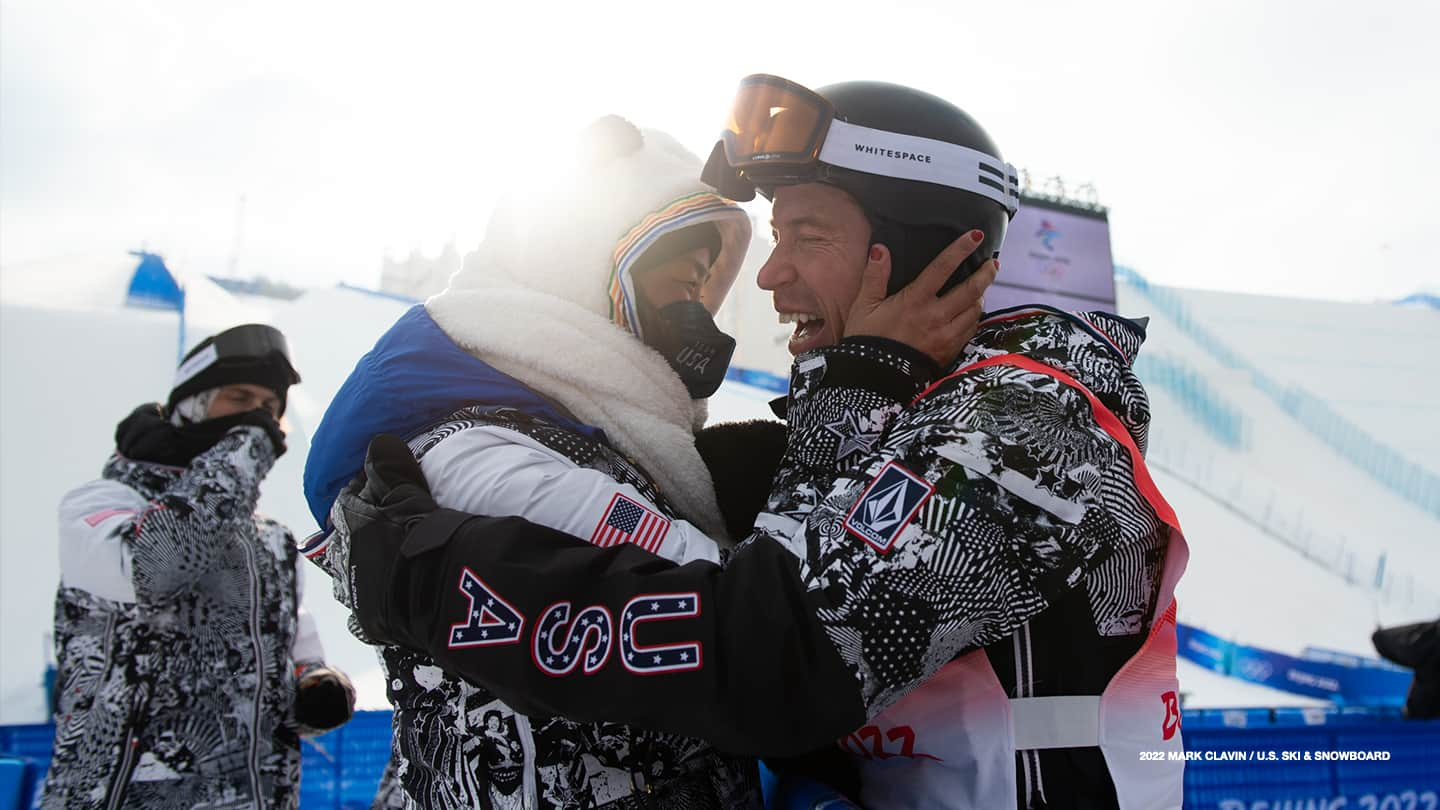
[[[989,311],[1024,304],[1115,311],[1110,222],[1103,210],[1021,197],[999,262],[999,277],[985,293]]]

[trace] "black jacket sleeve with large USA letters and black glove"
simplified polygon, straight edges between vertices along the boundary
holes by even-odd
[[[863,725],[795,558],[769,540],[724,568],[675,565],[520,517],[441,509],[397,525],[377,503],[351,489],[333,513],[350,533],[364,633],[428,653],[520,712],[755,755],[802,754]]]

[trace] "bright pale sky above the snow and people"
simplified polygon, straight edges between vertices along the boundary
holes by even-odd
[[[386,249],[471,249],[593,117],[703,156],[769,72],[953,101],[1034,177],[1093,183],[1161,284],[1436,293],[1437,30],[1430,0],[4,0],[0,265],[144,245],[374,285]]]

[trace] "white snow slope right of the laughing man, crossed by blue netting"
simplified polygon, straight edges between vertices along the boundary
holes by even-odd
[[[1181,584],[1181,594],[1191,597],[1188,607],[1182,602],[1188,621],[1282,651],[1280,641],[1292,638],[1292,644],[1367,653],[1377,618],[1397,623],[1440,614],[1440,519],[1316,437],[1248,373],[1225,368],[1153,297],[1129,284],[1119,290],[1122,314],[1152,319],[1142,355],[1200,372],[1212,395],[1246,422],[1244,447],[1227,447],[1185,408],[1181,392],[1148,380],[1149,461],[1174,481],[1165,491],[1185,502],[1176,509],[1194,552],[1191,575]],[[1348,408],[1346,418],[1374,441],[1436,470],[1440,457],[1427,448],[1437,442],[1440,427],[1433,415],[1411,408],[1440,396],[1434,313],[1168,293],[1266,375],[1299,385],[1336,411]],[[1306,356],[1313,360],[1302,363]],[[1403,359],[1403,373],[1391,357]],[[1359,398],[1372,405],[1355,405]],[[1223,562],[1205,569],[1211,549]],[[1201,571],[1202,578],[1195,575]],[[1195,594],[1201,581],[1204,594]],[[1208,597],[1220,592],[1223,598]]]

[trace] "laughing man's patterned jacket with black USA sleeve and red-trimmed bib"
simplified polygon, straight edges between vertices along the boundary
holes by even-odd
[[[526,711],[759,755],[838,741],[868,804],[1178,806],[1181,764],[1135,764],[1181,744],[1188,553],[1143,466],[1142,337],[1032,307],[986,319],[933,383],[877,340],[798,357],[769,506],[723,566],[435,510],[418,476],[376,468],[336,509],[347,597],[367,633]],[[516,628],[456,644],[494,627],[477,598]],[[589,666],[541,666],[556,634]],[[1047,738],[1047,706],[1089,736]]]

